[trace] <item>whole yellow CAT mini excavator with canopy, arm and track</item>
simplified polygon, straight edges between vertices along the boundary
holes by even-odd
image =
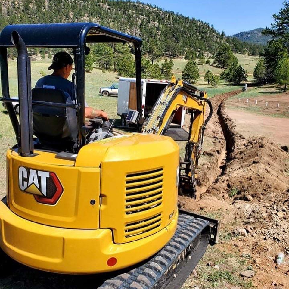
[[[135,132],[117,131],[114,121],[85,123],[86,43],[99,42],[135,48],[137,109],[127,115]],[[11,47],[18,53],[19,120],[8,85]],[[58,89],[31,89],[27,47],[72,49],[76,102]],[[2,30],[2,101],[17,143],[6,154],[1,264],[7,254],[49,272],[115,272],[100,288],[179,288],[208,244],[217,242],[219,221],[178,210],[178,193],[195,197],[195,168],[212,106],[206,92],[173,77],[143,119],[140,48],[141,39],[95,23]],[[166,136],[179,107],[191,120],[183,161]]]

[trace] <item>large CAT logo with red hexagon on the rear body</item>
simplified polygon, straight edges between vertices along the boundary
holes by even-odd
[[[33,194],[39,203],[54,205],[63,192],[61,182],[54,172],[20,166],[18,176],[20,190]]]

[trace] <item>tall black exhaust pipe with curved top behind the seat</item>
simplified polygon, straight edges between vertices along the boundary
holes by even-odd
[[[33,120],[31,97],[31,67],[26,45],[17,31],[11,33],[11,41],[17,49],[17,74],[20,120],[20,147],[22,157],[33,156]]]

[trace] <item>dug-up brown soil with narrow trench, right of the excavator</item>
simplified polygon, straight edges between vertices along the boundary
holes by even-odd
[[[289,154],[263,136],[245,138],[236,130],[225,100],[237,93],[211,98],[199,196],[179,197],[180,208],[221,220],[219,244],[207,250],[184,287],[289,288]],[[285,254],[280,266],[279,252]],[[241,277],[248,269],[254,276]]]

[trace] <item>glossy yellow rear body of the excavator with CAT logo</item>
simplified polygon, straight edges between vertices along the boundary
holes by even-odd
[[[75,162],[35,153],[7,152],[9,208],[0,202],[0,231],[13,259],[52,272],[108,272],[147,259],[172,238],[179,147],[171,138],[111,137],[84,146]],[[55,204],[41,202],[54,193]]]

